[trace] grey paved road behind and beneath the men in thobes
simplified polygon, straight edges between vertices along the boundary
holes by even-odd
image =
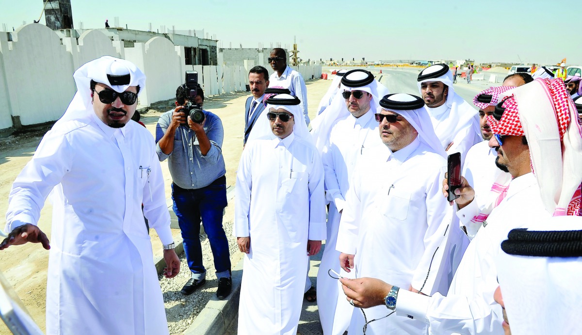
[[[326,69],[324,68],[324,71]],[[418,86],[416,78],[418,76],[417,69],[382,69],[382,74],[380,77],[379,69],[368,69],[372,73],[377,74],[377,78],[380,80],[382,84],[384,84],[391,93],[409,93],[414,95],[419,95]],[[468,102],[473,101],[473,97],[475,94],[484,90],[484,88],[489,87],[489,83],[483,82],[476,82],[473,81],[472,84],[467,84],[465,81],[458,80],[458,83],[454,85],[455,92],[459,94],[463,99]],[[330,81],[331,83],[331,81]],[[499,85],[499,84],[498,84]],[[314,104],[315,102],[311,102],[310,104]],[[318,104],[315,103],[316,105]],[[322,251],[327,247],[327,245],[323,245]],[[317,271],[320,266],[321,262],[321,255],[322,251],[311,258],[311,266],[309,270],[309,276],[311,279],[311,283],[314,285],[317,281]],[[233,320],[232,324],[230,325],[228,335],[236,334],[236,322],[237,319]],[[321,324],[319,321],[319,313],[317,309],[316,302],[307,302],[303,300],[303,307],[301,311],[301,319],[299,321],[299,327],[297,329],[297,333],[301,335],[315,335],[315,334],[322,334]]]

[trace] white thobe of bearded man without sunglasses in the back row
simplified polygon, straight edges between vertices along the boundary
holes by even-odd
[[[426,107],[426,109],[442,147],[446,150],[449,144],[452,143],[446,153],[450,155],[460,152],[461,162],[464,162],[469,149],[482,140],[481,135],[476,131],[479,129],[479,117],[477,111],[466,102],[461,105],[455,105],[455,107],[463,109],[460,119],[450,115],[451,107],[446,103],[435,108]]]

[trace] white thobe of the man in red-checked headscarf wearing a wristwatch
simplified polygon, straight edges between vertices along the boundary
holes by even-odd
[[[513,179],[506,197],[471,240],[448,295],[426,297],[400,290],[396,313],[425,320],[431,334],[503,334],[501,306],[493,299],[501,242],[510,230],[550,216],[534,174]]]

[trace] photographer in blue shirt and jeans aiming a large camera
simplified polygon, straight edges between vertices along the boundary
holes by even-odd
[[[217,297],[224,299],[232,286],[228,241],[222,228],[222,212],[227,205],[221,149],[224,130],[217,115],[202,110],[203,102],[204,91],[200,85],[178,87],[176,108],[159,117],[156,151],[160,161],[168,158],[173,180],[173,210],[191,271],[191,278],[181,292],[189,295],[206,282],[199,237],[202,222],[214,255]]]

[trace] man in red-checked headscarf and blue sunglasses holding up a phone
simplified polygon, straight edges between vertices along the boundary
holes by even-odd
[[[494,133],[489,145],[496,148],[498,164],[506,166],[513,179],[488,224],[471,240],[448,295],[424,297],[401,290],[392,299],[387,295],[391,284],[371,278],[342,279],[344,291],[356,305],[380,305],[384,295],[397,315],[425,320],[430,333],[503,332],[502,309],[494,302],[501,241],[528,222],[552,215],[579,216],[582,182],[582,170],[577,168],[582,165],[582,129],[562,80],[535,80],[505,94],[511,96],[487,120]]]

